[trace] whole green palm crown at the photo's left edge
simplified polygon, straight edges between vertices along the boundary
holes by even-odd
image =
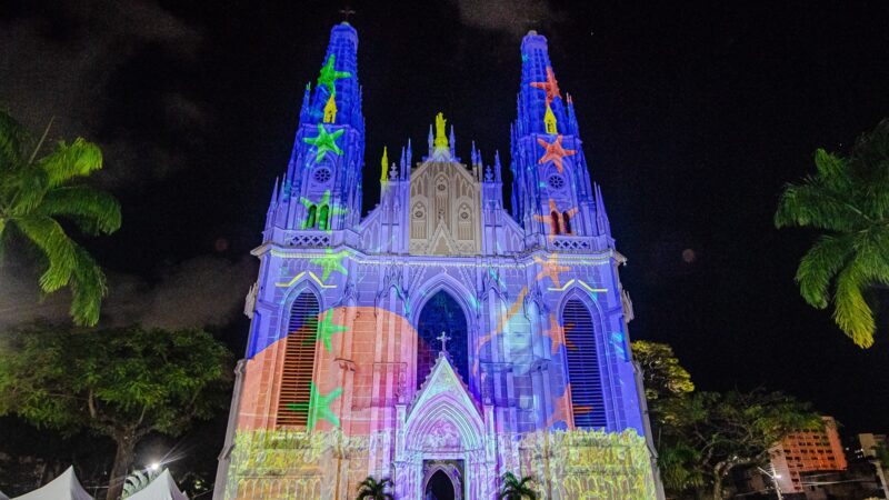
[[[74,323],[92,326],[107,291],[104,273],[57,219],[88,234],[108,234],[120,228],[120,204],[104,191],[74,183],[102,168],[99,148],[78,138],[57,142],[43,154],[49,129],[34,141],[0,110],[0,251],[13,236],[40,250],[47,266],[40,288],[52,293],[69,287]]]

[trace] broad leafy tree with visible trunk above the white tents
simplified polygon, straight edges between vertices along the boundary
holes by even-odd
[[[117,499],[136,446],[178,436],[228,401],[231,353],[202,330],[140,326],[79,331],[33,327],[0,346],[0,414],[117,444],[108,488]]]

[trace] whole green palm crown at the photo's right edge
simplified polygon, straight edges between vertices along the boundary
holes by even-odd
[[[819,149],[817,172],[781,194],[775,224],[822,234],[797,269],[800,293],[825,309],[856,344],[873,344],[873,312],[863,291],[889,284],[889,120],[858,139],[848,158]]]

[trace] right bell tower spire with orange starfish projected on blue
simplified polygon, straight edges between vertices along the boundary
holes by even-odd
[[[606,237],[610,229],[593,189],[570,96],[562,97],[547,39],[530,31],[521,43],[518,119],[512,124],[512,207],[529,244],[556,237]],[[547,241],[545,241],[545,239]]]

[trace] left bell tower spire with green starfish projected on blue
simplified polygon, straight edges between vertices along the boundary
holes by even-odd
[[[306,86],[287,173],[269,204],[266,241],[336,244],[359,222],[364,117],[357,50],[356,30],[348,22],[334,26],[314,89]]]

